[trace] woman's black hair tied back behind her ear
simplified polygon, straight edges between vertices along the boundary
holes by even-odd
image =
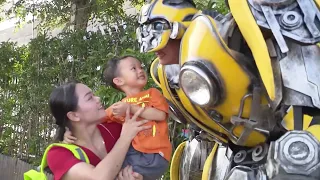
[[[76,95],[76,82],[69,82],[55,88],[49,99],[49,107],[51,114],[56,119],[58,130],[55,137],[55,142],[63,140],[66,127],[71,130],[70,120],[67,113],[77,110],[78,96]]]

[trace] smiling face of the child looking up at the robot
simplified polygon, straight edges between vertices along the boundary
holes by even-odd
[[[147,74],[136,58],[128,57],[121,60],[118,65],[118,72],[123,85],[143,88],[147,84]]]

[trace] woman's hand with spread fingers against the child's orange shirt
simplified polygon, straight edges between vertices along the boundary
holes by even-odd
[[[125,122],[122,125],[120,138],[126,138],[130,141],[140,132],[146,129],[150,129],[151,126],[143,126],[148,120],[137,121],[137,118],[142,113],[144,108],[140,108],[133,116],[130,118],[130,108],[127,108]]]

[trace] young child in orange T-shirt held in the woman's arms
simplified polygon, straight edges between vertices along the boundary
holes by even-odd
[[[148,77],[141,62],[133,56],[111,59],[103,73],[107,85],[124,92],[126,98],[109,107],[105,121],[124,122],[126,109],[134,114],[144,107],[141,119],[150,120],[152,128],[140,132],[132,141],[123,167],[131,165],[144,180],[159,179],[167,170],[172,153],[168,137],[168,110],[166,99],[155,88],[143,90]]]

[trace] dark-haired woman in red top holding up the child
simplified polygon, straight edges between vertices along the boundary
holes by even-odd
[[[132,139],[138,132],[150,128],[142,126],[147,120],[136,121],[142,108],[131,119],[130,110],[127,110],[122,130],[117,123],[100,124],[106,116],[100,99],[80,83],[68,83],[54,89],[49,106],[59,126],[57,141],[63,140],[65,128],[69,128],[76,137],[75,144],[90,160],[87,164],[69,150],[53,147],[48,152],[47,161],[55,180],[142,179],[141,175],[132,173],[130,167],[119,173]]]

